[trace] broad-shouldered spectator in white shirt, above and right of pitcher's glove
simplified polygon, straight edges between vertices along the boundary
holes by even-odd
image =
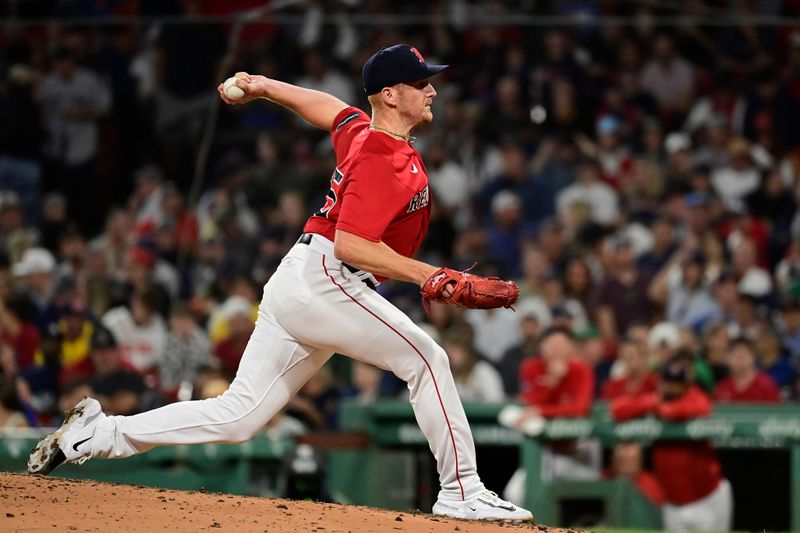
[[[600,167],[590,159],[579,164],[578,181],[558,193],[556,209],[559,220],[573,229],[589,221],[612,225],[620,216],[618,194],[600,179]]]

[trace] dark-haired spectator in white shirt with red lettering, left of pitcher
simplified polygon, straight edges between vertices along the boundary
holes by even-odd
[[[160,295],[153,287],[134,291],[129,305],[109,310],[101,322],[114,335],[127,364],[137,372],[155,373],[164,357],[168,334],[158,313]]]

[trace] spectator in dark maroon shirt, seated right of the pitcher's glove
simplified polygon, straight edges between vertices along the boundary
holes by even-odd
[[[625,237],[606,241],[608,268],[592,295],[595,321],[603,339],[613,344],[629,324],[649,322],[654,307],[647,295],[649,280],[636,265],[633,245]]]

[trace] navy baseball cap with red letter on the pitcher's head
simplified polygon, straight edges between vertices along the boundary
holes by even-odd
[[[364,92],[379,93],[384,87],[424,80],[450,65],[429,65],[419,50],[407,44],[381,48],[364,63]]]

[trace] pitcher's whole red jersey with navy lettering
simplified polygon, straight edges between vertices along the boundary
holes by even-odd
[[[369,125],[369,116],[355,107],[336,116],[331,188],[325,205],[311,215],[303,231],[333,241],[340,229],[411,257],[430,222],[428,174],[409,143],[370,130]]]

